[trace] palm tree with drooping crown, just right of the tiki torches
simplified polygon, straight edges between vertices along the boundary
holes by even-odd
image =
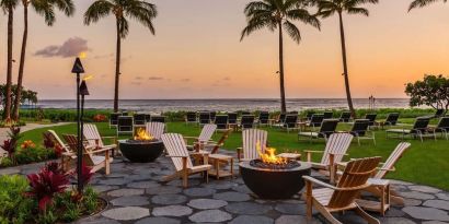
[[[135,19],[143,26],[148,27],[154,35],[152,20],[157,16],[156,5],[145,0],[96,0],[84,13],[84,24],[90,25],[100,19],[113,14],[116,20],[117,46],[115,60],[115,89],[114,89],[114,111],[118,111],[118,84],[120,75],[120,51],[122,38],[128,35],[129,27],[127,17]]]

